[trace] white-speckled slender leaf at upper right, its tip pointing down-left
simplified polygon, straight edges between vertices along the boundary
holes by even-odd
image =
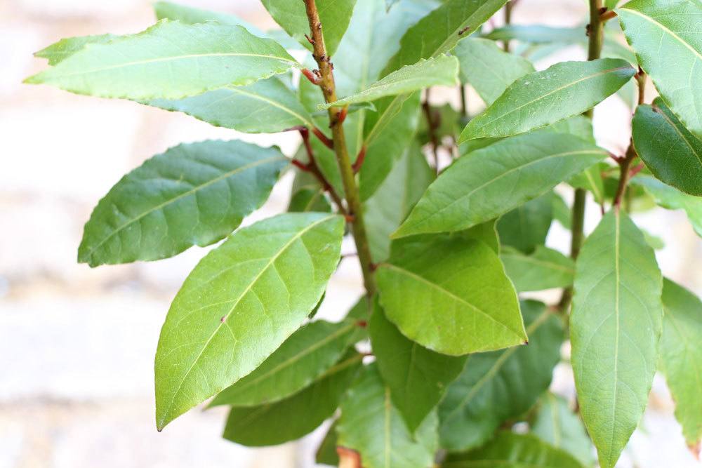
[[[512,83],[485,112],[472,119],[458,142],[506,137],[582,114],[634,76],[621,59],[560,62]]]

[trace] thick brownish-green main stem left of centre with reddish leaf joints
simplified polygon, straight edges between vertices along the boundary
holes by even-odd
[[[324,37],[322,36],[322,22],[319,20],[317,5],[314,0],[305,0],[305,10],[307,20],[310,24],[314,60],[317,61],[321,80],[319,86],[324,93],[326,102],[336,101],[336,86],[334,84],[333,65],[326,55],[324,48]],[[356,174],[351,166],[351,159],[346,148],[346,135],[343,128],[342,109],[338,107],[329,108],[329,127],[334,142],[334,153],[336,162],[341,173],[341,180],[344,186],[344,193],[347,203],[347,219],[351,223],[351,231],[356,243],[359,262],[363,272],[364,286],[366,294],[372,296],[376,292],[376,283],[373,278],[373,259],[371,258],[371,248],[366,236],[366,226],[363,222],[363,209],[361,206],[361,196],[356,185]]]

